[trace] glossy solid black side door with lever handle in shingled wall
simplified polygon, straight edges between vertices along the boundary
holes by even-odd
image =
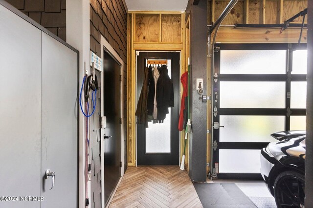
[[[105,205],[121,177],[121,88],[120,65],[104,52],[104,116],[107,117],[104,139]]]

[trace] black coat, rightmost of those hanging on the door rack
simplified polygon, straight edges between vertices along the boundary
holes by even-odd
[[[169,113],[168,108],[174,107],[174,88],[165,65],[160,67],[159,73],[156,83],[157,120],[163,123],[166,114]]]

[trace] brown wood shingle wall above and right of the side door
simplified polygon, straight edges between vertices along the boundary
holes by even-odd
[[[127,150],[127,10],[123,0],[90,0],[90,50],[100,56],[100,35],[124,61],[123,109],[125,157]]]

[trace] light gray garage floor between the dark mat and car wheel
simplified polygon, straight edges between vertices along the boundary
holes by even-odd
[[[275,199],[261,180],[207,180],[207,183],[234,183],[258,208],[276,208]]]

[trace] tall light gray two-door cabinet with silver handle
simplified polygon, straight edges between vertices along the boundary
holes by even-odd
[[[77,52],[4,5],[0,1],[0,196],[44,200],[0,201],[0,208],[75,208]],[[55,172],[53,189],[47,169]]]

